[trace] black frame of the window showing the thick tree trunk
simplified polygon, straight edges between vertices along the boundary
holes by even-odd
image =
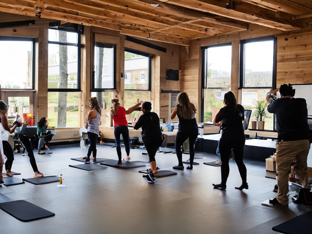
[[[51,30],[58,30],[58,31],[64,31],[57,28],[49,27]],[[73,31],[68,31],[73,32]],[[81,91],[81,31],[75,31],[74,33],[77,33],[77,43],[72,42],[62,42],[62,41],[48,41],[49,44],[54,45],[61,45],[61,46],[76,46],[77,47],[77,88],[48,88],[48,92],[80,92]]]

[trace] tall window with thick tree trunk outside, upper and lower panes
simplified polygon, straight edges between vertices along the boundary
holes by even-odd
[[[48,118],[55,127],[79,127],[80,32],[49,29]]]

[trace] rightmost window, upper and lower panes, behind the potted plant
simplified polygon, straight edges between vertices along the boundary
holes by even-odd
[[[241,105],[252,110],[251,120],[256,119],[255,107],[259,102],[266,103],[266,95],[276,80],[275,39],[257,38],[241,41],[240,88]],[[273,115],[266,112],[264,129],[273,130]]]

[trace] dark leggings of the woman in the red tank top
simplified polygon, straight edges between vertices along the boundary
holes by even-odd
[[[126,147],[126,154],[130,154],[130,138],[129,138],[129,129],[128,126],[117,125],[114,129],[114,137],[116,142],[116,150],[118,155],[118,163],[121,163],[121,147],[120,147],[120,134],[124,139],[124,146]]]

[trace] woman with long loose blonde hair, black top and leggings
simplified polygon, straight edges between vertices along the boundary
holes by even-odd
[[[173,169],[183,170],[182,151],[181,147],[183,142],[189,140],[190,150],[190,165],[186,169],[193,169],[194,161],[194,144],[198,136],[198,126],[196,121],[196,107],[190,102],[188,94],[183,92],[179,93],[177,97],[178,105],[176,105],[171,114],[171,119],[174,119],[177,115],[179,118],[178,133],[175,138],[175,150],[178,158],[178,166],[174,166]]]

